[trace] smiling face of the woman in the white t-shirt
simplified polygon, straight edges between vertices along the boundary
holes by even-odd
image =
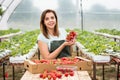
[[[56,25],[56,18],[52,12],[48,12],[45,15],[44,24],[48,29],[54,29]]]

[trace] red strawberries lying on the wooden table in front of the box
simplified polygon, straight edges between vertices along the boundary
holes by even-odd
[[[43,73],[39,75],[40,78],[45,79],[48,78],[48,80],[56,80],[61,79],[62,76],[68,77],[68,76],[74,76],[74,71],[71,69],[57,69],[57,70],[45,70]]]

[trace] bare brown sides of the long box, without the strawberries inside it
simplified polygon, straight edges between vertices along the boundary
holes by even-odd
[[[92,62],[90,60],[84,59],[81,57],[78,57],[78,58],[80,58],[82,61],[79,61],[75,64],[68,64],[68,65],[77,66],[78,70],[80,71],[84,71],[84,70],[91,71],[92,70]],[[31,60],[26,60],[24,62],[24,68],[33,74],[42,73],[46,69],[55,70],[56,67],[59,65],[60,64],[43,64],[43,63],[36,64],[32,62]]]

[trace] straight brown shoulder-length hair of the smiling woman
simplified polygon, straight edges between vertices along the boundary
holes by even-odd
[[[47,13],[49,12],[52,12],[56,18],[56,25],[54,27],[54,36],[59,36],[59,31],[58,31],[58,19],[57,19],[57,15],[56,15],[56,12],[51,10],[51,9],[47,9],[45,11],[43,11],[43,13],[41,14],[41,21],[40,21],[40,29],[41,29],[41,32],[43,33],[43,35],[49,39],[49,35],[48,35],[48,30],[47,30],[47,27],[46,25],[44,24],[44,19],[45,19],[45,16]]]

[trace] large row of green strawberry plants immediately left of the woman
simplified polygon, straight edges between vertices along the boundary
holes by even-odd
[[[0,43],[0,50],[11,50],[11,55],[24,55],[36,44],[39,30],[28,31]]]

